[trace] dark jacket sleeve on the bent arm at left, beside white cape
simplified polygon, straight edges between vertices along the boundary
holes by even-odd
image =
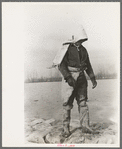
[[[61,64],[58,66],[59,71],[63,75],[64,79],[67,80],[71,76],[69,70],[68,70],[68,65],[67,65],[67,53],[65,54]]]

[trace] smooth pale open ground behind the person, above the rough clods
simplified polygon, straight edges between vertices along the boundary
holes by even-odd
[[[88,102],[91,123],[118,123],[119,96],[118,82],[114,80],[97,80],[98,85],[92,89],[88,81]],[[62,121],[63,107],[61,99],[61,82],[39,82],[25,84],[25,121],[27,119],[55,119]],[[71,111],[71,119],[79,120],[77,103]]]

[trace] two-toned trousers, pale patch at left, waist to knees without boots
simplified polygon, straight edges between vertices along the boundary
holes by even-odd
[[[72,68],[70,67],[70,70]],[[71,76],[76,81],[76,86],[73,88],[69,86],[64,79],[62,79],[62,99],[63,99],[63,108],[66,110],[70,110],[73,108],[74,99],[76,99],[78,106],[82,104],[83,101],[87,101],[87,80],[85,74],[80,71],[74,71],[74,69],[70,72]]]

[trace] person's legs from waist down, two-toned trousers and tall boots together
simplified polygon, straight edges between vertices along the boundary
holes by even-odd
[[[87,102],[87,80],[84,72],[75,71],[72,68],[71,76],[75,79],[75,87],[68,85],[65,80],[62,80],[62,98],[63,98],[63,135],[68,137],[70,135],[70,115],[71,109],[73,108],[74,99],[76,99],[78,104],[80,125],[82,127],[83,133],[98,134],[89,126],[89,109]]]

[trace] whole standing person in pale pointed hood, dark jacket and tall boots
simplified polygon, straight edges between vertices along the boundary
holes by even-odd
[[[78,37],[79,35],[79,37]],[[90,64],[87,50],[82,45],[84,41],[88,40],[85,30],[80,27],[76,35],[72,35],[72,40],[64,43],[65,47],[63,54],[58,53],[57,59],[60,59],[58,64],[59,71],[63,76],[62,80],[62,98],[63,102],[63,133],[64,137],[68,137],[71,133],[70,114],[73,108],[73,101],[76,99],[78,104],[78,111],[80,117],[80,124],[82,132],[98,133],[89,127],[89,110],[87,102],[87,80],[84,71],[88,74],[93,84],[92,88],[97,86],[95,75]],[[62,59],[59,58],[62,54]],[[55,62],[55,60],[54,60]]]

